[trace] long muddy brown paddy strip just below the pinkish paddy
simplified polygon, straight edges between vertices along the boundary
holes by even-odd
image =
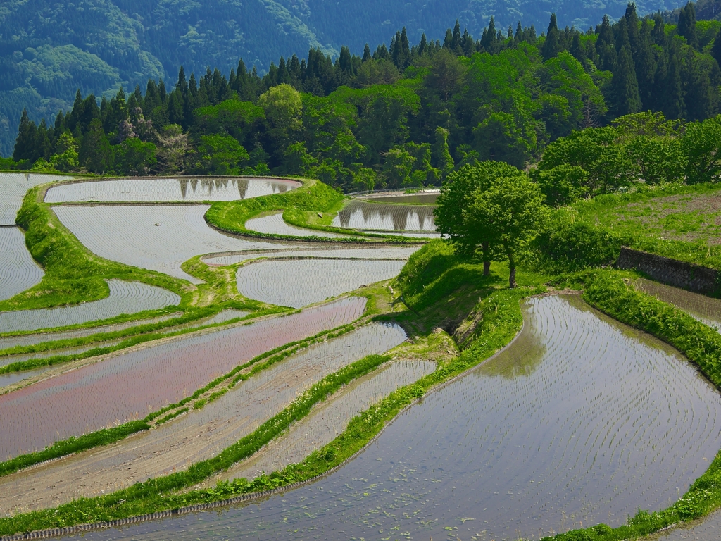
[[[37,509],[79,496],[97,496],[149,477],[184,470],[255,430],[311,384],[365,356],[384,353],[405,338],[397,325],[371,323],[309,346],[258,372],[203,409],[192,410],[152,431],[0,478],[0,514]],[[423,373],[423,369],[386,371],[386,380],[392,375],[409,379]],[[377,395],[388,387],[387,381],[371,385],[370,394],[373,389]],[[35,490],[27,491],[27,486]]]

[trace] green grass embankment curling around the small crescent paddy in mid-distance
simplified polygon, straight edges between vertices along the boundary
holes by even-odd
[[[309,221],[309,214],[327,213],[337,211],[345,196],[317,180],[304,180],[301,188],[286,193],[263,195],[262,197],[244,199],[242,201],[218,201],[208,208],[205,221],[218,231],[243,235],[244,237],[257,237],[260,239],[299,240],[303,242],[393,242],[411,243],[416,239],[406,237],[391,237],[381,234],[364,234],[352,229],[341,229],[329,225],[313,224]],[[305,229],[343,234],[345,237],[300,237],[274,233],[260,233],[245,227],[245,222],[258,214],[268,211],[283,211],[283,219],[293,226]]]

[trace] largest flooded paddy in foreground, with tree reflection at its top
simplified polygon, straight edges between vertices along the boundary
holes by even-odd
[[[721,447],[718,392],[679,353],[579,299],[523,310],[512,346],[328,478],[84,539],[515,540],[676,501]]]

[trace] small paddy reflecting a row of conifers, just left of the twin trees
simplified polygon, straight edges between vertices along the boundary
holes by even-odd
[[[358,200],[343,207],[332,225],[350,229],[435,231],[433,206],[384,205]]]

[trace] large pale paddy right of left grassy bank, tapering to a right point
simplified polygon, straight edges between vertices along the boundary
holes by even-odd
[[[55,207],[58,218],[91,252],[126,265],[159,271],[192,283],[180,265],[210,252],[263,250],[290,245],[218,233],[205,223],[207,205]]]

